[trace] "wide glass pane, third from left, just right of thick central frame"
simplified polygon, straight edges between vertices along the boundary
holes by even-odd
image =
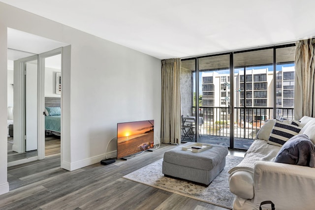
[[[248,149],[273,114],[273,49],[235,53],[234,66],[234,148]]]

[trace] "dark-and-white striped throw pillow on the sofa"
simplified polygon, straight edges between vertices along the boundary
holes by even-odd
[[[276,120],[267,143],[281,147],[287,140],[297,135],[301,129],[302,127],[294,124]]]

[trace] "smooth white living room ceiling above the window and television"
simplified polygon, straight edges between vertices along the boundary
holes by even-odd
[[[0,0],[158,59],[315,36],[315,0]]]

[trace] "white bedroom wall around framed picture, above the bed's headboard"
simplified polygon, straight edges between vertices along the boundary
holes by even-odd
[[[45,67],[45,97],[61,97],[61,94],[56,94],[57,72],[61,72],[61,69]]]

